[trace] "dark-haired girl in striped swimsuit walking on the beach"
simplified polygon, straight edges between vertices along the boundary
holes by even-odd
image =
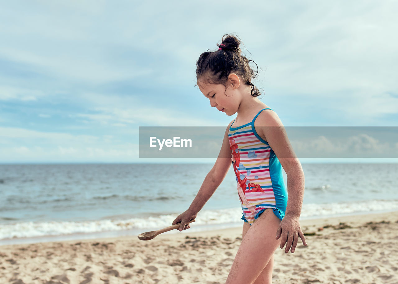
[[[187,222],[213,195],[232,159],[244,224],[226,284],[264,284],[271,283],[278,245],[282,249],[286,244],[285,253],[295,251],[298,237],[307,245],[299,223],[304,173],[279,117],[257,98],[260,92],[251,82],[254,70],[239,45],[235,36],[224,35],[218,50],[204,52],[197,60],[197,86],[210,105],[237,116],[228,124],[217,161],[191,206],[173,224],[181,222],[180,231],[190,228]]]

